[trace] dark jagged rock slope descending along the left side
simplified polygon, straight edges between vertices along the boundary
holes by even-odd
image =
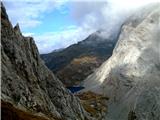
[[[1,3],[2,96],[17,108],[63,120],[84,120],[87,113],[41,60],[33,38],[12,27]]]

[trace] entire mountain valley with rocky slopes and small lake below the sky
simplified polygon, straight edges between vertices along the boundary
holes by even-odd
[[[160,120],[160,3],[46,54],[7,12],[1,2],[2,120]]]

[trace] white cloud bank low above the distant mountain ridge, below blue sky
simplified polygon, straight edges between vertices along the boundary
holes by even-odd
[[[68,26],[59,32],[47,32],[41,35],[34,35],[39,52],[49,53],[55,49],[66,48],[67,46],[85,39],[93,30],[84,30],[81,27]]]

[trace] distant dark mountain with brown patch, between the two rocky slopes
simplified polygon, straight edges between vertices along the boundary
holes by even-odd
[[[112,55],[118,34],[118,30],[109,34],[99,30],[77,44],[41,58],[66,86],[78,85]]]

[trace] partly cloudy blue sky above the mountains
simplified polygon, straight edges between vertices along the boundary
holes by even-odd
[[[49,53],[111,31],[137,7],[160,0],[2,0],[14,25],[32,36],[39,52]]]

